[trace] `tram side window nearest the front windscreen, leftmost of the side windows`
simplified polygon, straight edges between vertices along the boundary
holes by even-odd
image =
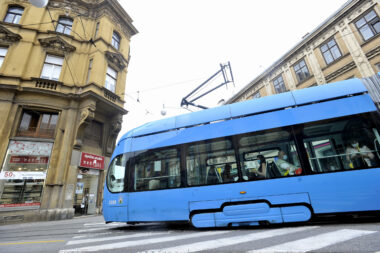
[[[178,149],[149,150],[136,156],[134,182],[136,191],[177,188],[180,185]]]

